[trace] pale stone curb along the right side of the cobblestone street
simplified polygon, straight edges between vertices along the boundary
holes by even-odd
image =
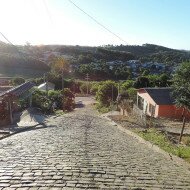
[[[161,149],[159,146],[146,141],[145,139],[143,139],[142,137],[140,137],[139,135],[137,135],[136,133],[130,131],[129,129],[126,129],[125,127],[117,124],[115,121],[113,121],[112,119],[108,118],[107,116],[101,116],[102,118],[107,119],[108,121],[111,122],[111,124],[113,126],[116,126],[119,130],[121,130],[122,132],[132,136],[133,138],[137,139],[140,143],[145,144],[146,146],[148,146],[149,148],[153,149],[154,151],[163,154],[168,160],[170,161],[175,161],[178,164],[182,164],[184,165],[186,168],[188,168],[189,172],[190,172],[190,164],[188,162],[186,162],[185,160],[183,160],[182,158],[175,156],[173,154],[170,154],[166,151],[164,151],[163,149]]]

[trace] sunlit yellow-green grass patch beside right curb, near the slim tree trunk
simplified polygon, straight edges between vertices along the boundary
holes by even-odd
[[[190,162],[190,146],[172,144],[166,135],[154,128],[148,129],[146,131],[135,130],[135,132],[145,140],[159,146],[166,152],[174,154]]]

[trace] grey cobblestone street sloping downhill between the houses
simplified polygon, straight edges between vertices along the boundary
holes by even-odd
[[[1,140],[0,189],[190,189],[190,171],[86,106]]]

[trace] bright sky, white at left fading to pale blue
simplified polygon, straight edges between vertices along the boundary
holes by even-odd
[[[72,1],[127,44],[190,50],[189,0]],[[68,0],[0,0],[0,23],[15,44],[125,44]]]

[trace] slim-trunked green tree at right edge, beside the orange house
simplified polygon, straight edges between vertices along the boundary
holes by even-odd
[[[183,127],[179,138],[180,142],[185,127],[186,114],[190,111],[190,62],[182,63],[177,69],[173,76],[172,88],[176,106],[183,108]]]

